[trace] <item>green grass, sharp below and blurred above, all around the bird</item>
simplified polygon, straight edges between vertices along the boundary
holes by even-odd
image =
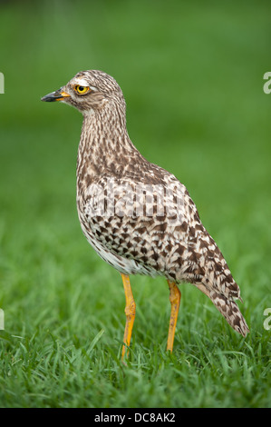
[[[1,407],[271,406],[269,16],[264,1],[1,5]],[[121,363],[121,277],[75,207],[82,117],[40,102],[88,68],[116,77],[131,139],[187,185],[241,288],[246,339],[184,284],[169,355],[167,283],[137,276]]]

